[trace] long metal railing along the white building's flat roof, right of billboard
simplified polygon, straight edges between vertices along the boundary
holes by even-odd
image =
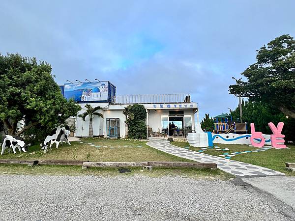
[[[191,103],[190,94],[143,94],[114,96],[115,104]]]

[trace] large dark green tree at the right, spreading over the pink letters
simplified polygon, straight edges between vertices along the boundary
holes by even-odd
[[[257,51],[250,65],[229,91],[250,101],[264,102],[295,118],[295,40],[285,34]]]

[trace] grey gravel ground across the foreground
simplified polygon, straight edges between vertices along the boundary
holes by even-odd
[[[0,220],[288,220],[229,181],[0,175]]]

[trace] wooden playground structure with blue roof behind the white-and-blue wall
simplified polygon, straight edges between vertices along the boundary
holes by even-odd
[[[233,117],[229,114],[223,113],[213,117],[214,132],[216,134],[229,134],[229,133],[247,133],[247,122],[236,123]]]

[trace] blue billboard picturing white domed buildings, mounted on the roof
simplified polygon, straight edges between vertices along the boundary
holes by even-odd
[[[76,102],[108,102],[109,82],[65,83],[63,96]]]

